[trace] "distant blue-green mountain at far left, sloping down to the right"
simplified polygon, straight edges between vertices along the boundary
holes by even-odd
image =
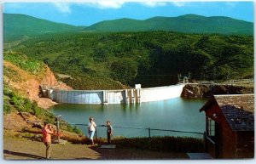
[[[38,34],[81,31],[84,26],[74,26],[42,20],[25,14],[3,14],[3,40],[17,40]]]

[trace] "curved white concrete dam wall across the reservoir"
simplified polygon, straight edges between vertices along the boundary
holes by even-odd
[[[49,98],[67,104],[130,104],[180,97],[183,84],[123,90],[49,90]]]

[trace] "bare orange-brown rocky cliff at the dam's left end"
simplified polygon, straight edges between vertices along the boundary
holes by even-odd
[[[15,89],[16,92],[22,96],[36,101],[39,107],[44,109],[49,108],[56,103],[50,99],[43,98],[41,94],[41,88],[59,88],[70,90],[63,82],[58,82],[52,71],[49,70],[47,65],[44,65],[44,73],[40,76],[32,75],[31,73],[20,69],[17,65],[13,65],[8,61],[3,61],[4,70],[3,82],[4,85],[8,85],[10,88]]]

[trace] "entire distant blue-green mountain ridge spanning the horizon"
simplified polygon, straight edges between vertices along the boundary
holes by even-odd
[[[253,35],[253,23],[223,16],[205,17],[185,14],[177,17],[153,17],[147,20],[104,20],[88,27],[55,23],[25,14],[3,14],[3,39],[20,39],[49,32],[76,31],[177,31]]]

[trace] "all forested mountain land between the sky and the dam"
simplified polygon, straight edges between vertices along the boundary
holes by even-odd
[[[3,14],[3,33],[4,52],[44,61],[72,76],[62,80],[77,89],[170,85],[178,73],[195,80],[253,77],[253,23],[227,17],[120,19],[85,28]]]

